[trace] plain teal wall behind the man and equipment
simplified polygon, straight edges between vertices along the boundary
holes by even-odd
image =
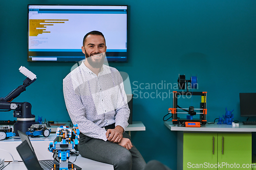
[[[28,4],[129,5],[129,62],[110,66],[127,72],[133,91],[138,90],[134,93],[142,94],[134,99],[133,120],[141,120],[146,131],[133,132],[132,139],[146,161],[157,159],[177,167],[177,133],[170,132],[162,120],[172,107],[172,95],[156,98],[156,90],[162,95],[174,89],[160,89],[161,84],[157,89],[136,89],[136,85],[174,84],[179,74],[187,79],[197,76],[196,91],[207,91],[208,121],[225,114],[225,107],[234,109],[235,120],[246,119],[240,117],[239,93],[256,92],[256,1],[2,0],[0,96],[22,84],[25,77],[18,68],[23,65],[37,80],[14,101],[30,102],[36,116],[67,121],[62,79],[74,63],[27,62]],[[0,116],[0,120],[14,119],[12,112]]]

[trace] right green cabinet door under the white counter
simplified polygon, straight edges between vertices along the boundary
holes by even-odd
[[[222,169],[251,169],[251,159],[251,134],[218,134],[218,163]]]

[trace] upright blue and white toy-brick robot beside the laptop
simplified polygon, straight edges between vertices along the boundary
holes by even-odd
[[[72,131],[73,131],[73,134],[75,135],[75,139],[73,139],[73,141],[71,141]],[[69,167],[69,157],[70,157],[70,151],[74,149],[75,144],[79,143],[79,134],[80,134],[80,131],[77,125],[74,125],[72,130],[69,129],[68,126],[60,126],[59,128],[57,128],[57,131],[56,131],[57,137],[54,140],[54,143],[51,142],[49,144],[48,151],[57,155],[59,159],[59,167],[56,167],[56,165],[54,165],[52,170],[56,170],[56,169],[75,170],[76,169],[73,166],[73,164],[71,164],[70,165],[71,167]]]

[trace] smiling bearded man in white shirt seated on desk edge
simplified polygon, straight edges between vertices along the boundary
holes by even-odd
[[[103,34],[87,33],[82,52],[86,60],[63,79],[67,110],[81,132],[79,153],[112,164],[115,170],[142,170],[146,163],[125,132],[130,109],[122,77],[116,68],[103,64]]]

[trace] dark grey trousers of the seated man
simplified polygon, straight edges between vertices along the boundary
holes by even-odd
[[[124,138],[131,136],[126,132]],[[127,150],[117,143],[94,139],[80,133],[78,151],[82,157],[114,165],[115,170],[142,170],[146,163],[133,145],[131,150]]]

